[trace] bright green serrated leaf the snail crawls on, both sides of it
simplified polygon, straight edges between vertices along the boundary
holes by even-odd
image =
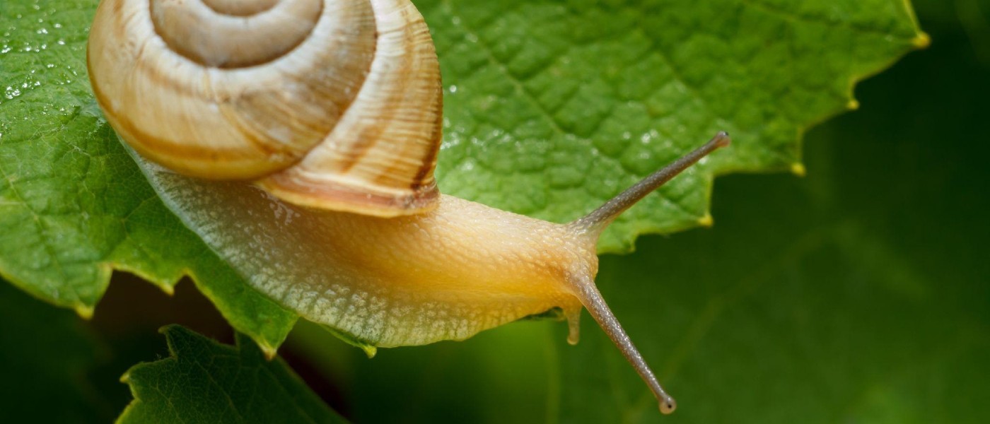
[[[166,212],[100,118],[84,45],[95,0],[0,14],[0,275],[88,315],[112,270],[170,291],[194,277],[270,353],[296,316],[244,284]],[[926,42],[902,0],[417,2],[446,85],[446,193],[563,221],[718,129],[732,154],[676,179],[607,232],[710,223],[715,174],[801,169],[804,127],[851,83]]]

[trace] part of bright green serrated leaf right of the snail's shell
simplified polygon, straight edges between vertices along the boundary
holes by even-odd
[[[710,223],[713,176],[802,173],[805,128],[928,42],[902,0],[422,0],[441,56],[447,194],[551,221],[611,199],[718,130],[731,151],[626,212],[602,252]]]

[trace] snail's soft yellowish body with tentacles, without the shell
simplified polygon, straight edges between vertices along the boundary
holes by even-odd
[[[583,306],[670,413],[673,399],[595,287],[595,245],[619,213],[728,144],[720,133],[566,224],[450,196],[395,218],[306,209],[244,183],[175,174],[131,151],[169,209],[251,287],[307,319],[391,347],[461,340],[559,307],[577,343]]]

